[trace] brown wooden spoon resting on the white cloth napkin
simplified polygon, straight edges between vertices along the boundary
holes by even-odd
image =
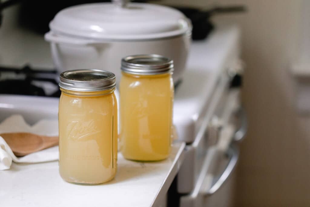
[[[0,136],[11,147],[16,156],[25,156],[58,145],[58,137],[47,137],[32,133],[3,133]]]

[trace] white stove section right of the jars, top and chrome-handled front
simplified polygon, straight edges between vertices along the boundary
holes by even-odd
[[[232,149],[229,146],[233,139],[244,136],[246,127],[245,117],[240,117],[244,114],[240,113],[239,88],[229,87],[229,74],[242,68],[239,38],[237,27],[223,26],[207,40],[192,45],[188,70],[176,91],[174,106],[179,139],[187,143],[184,163],[177,176],[180,206],[206,206],[208,200],[215,197],[210,196],[210,189],[222,188],[220,183],[227,189],[233,188],[226,184],[233,182],[224,178],[230,178],[229,174],[233,173],[238,150],[236,146]],[[242,127],[239,119],[243,119]],[[229,132],[230,127],[233,130]],[[224,166],[218,173],[219,165]],[[232,194],[213,199],[210,206],[229,206],[232,199],[223,198]],[[225,205],[219,205],[223,200]]]

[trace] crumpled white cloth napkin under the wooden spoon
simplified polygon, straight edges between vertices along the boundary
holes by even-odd
[[[21,115],[12,115],[0,123],[0,134],[28,132],[43,136],[58,136],[58,120],[42,119],[33,126],[25,122]],[[12,160],[17,163],[38,163],[58,160],[58,146],[16,157],[0,136],[0,170],[10,169]]]

